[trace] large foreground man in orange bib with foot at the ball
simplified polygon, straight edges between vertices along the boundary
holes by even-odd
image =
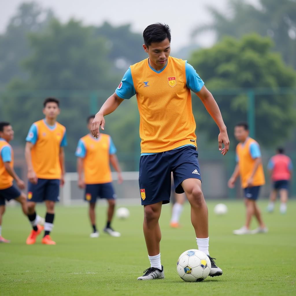
[[[181,59],[170,57],[170,28],[160,23],[149,25],[143,33],[148,59],[128,68],[115,93],[103,104],[92,123],[92,133],[104,130],[104,116],[113,112],[124,99],[136,94],[140,113],[141,159],[139,185],[144,205],[144,237],[149,267],[139,280],[163,279],[160,263],[159,217],[162,204],[170,202],[171,172],[176,193],[186,193],[191,205],[191,221],[199,250],[212,263],[210,276],[222,274],[210,257],[208,210],[202,194],[197,160],[195,121],[191,90],[200,97],[217,123],[219,150],[223,155],[229,139],[221,112],[194,68]],[[222,149],[222,143],[225,147]]]

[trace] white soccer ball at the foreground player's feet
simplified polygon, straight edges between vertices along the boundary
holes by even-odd
[[[177,272],[184,281],[203,281],[211,270],[209,257],[199,250],[187,250],[177,262]]]

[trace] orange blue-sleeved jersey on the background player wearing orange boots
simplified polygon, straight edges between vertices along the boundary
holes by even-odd
[[[38,178],[60,179],[60,147],[66,146],[66,128],[55,123],[48,126],[45,120],[33,123],[26,141],[34,144],[31,150],[32,164]]]

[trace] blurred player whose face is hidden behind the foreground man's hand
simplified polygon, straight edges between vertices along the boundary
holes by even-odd
[[[91,131],[91,123],[95,115],[87,118],[87,128]],[[108,201],[107,224],[104,232],[112,237],[120,237],[120,233],[111,227],[115,207],[115,192],[112,186],[110,162],[118,173],[118,183],[122,183],[121,170],[115,155],[116,148],[109,135],[100,134],[95,139],[88,133],[82,137],[76,149],[78,186],[85,189],[84,199],[89,202],[89,218],[93,228],[90,237],[99,237],[96,229],[96,199],[106,198]],[[83,176],[84,175],[84,176]]]

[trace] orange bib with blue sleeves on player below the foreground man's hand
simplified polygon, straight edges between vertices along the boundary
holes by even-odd
[[[75,155],[83,158],[85,184],[103,184],[112,182],[110,154],[116,152],[109,135],[100,133],[98,139],[90,134],[78,142]]]

